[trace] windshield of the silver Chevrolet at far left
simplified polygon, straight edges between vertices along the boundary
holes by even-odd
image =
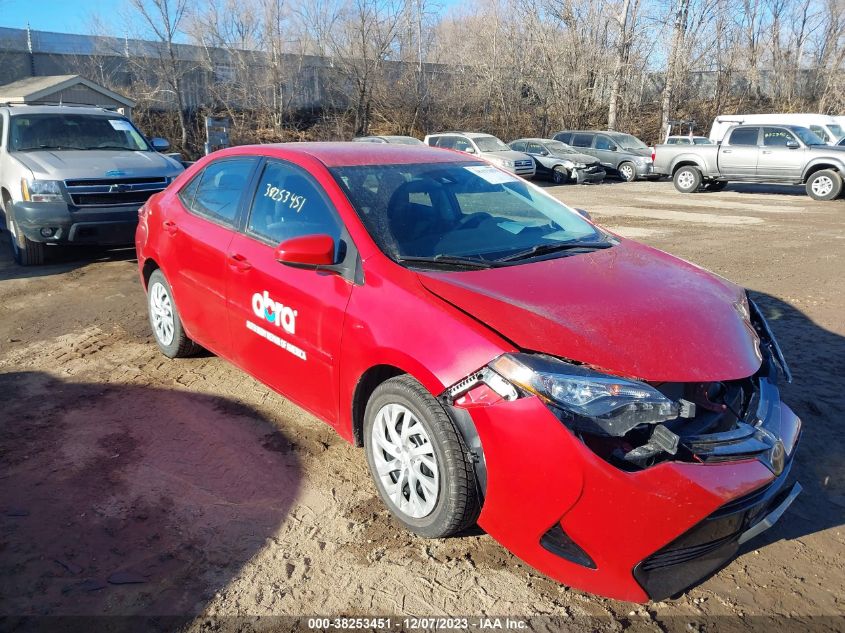
[[[151,151],[141,133],[122,117],[94,114],[16,114],[11,117],[12,151],[101,149]]]

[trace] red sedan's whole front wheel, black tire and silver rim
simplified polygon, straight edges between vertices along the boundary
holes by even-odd
[[[443,538],[475,523],[480,504],[468,451],[446,411],[416,380],[398,376],[375,389],[364,448],[379,496],[408,530]]]

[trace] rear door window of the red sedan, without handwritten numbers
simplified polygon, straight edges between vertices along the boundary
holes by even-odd
[[[254,158],[215,161],[179,197],[193,213],[233,226],[255,162]]]

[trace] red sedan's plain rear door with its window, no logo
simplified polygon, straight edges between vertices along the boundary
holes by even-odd
[[[258,159],[216,160],[198,173],[164,211],[162,267],[188,335],[227,357],[227,252]]]

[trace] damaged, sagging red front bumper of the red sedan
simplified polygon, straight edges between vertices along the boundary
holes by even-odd
[[[591,593],[646,602],[682,591],[729,561],[742,534],[783,501],[784,484],[773,483],[785,475],[759,459],[666,461],[625,472],[536,397],[467,410],[487,471],[479,525],[541,572]],[[779,400],[771,415],[767,428],[786,438],[788,465],[800,420]],[[714,517],[732,517],[718,522],[716,545],[712,528],[697,527],[715,526]],[[678,549],[684,556],[675,559]]]

